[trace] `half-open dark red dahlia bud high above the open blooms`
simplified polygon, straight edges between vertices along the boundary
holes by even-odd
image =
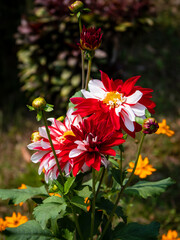
[[[80,48],[88,51],[96,50],[101,45],[102,35],[101,28],[98,30],[94,27],[86,29],[83,26],[79,44]]]

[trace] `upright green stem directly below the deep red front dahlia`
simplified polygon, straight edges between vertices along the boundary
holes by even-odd
[[[91,212],[91,240],[93,240],[94,235],[94,221],[95,221],[95,202],[96,202],[96,189],[95,189],[95,169],[92,169],[92,193],[93,193],[93,201],[92,201],[92,212]]]

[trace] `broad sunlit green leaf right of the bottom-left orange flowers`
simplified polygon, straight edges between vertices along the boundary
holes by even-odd
[[[65,213],[66,207],[67,205],[63,198],[52,196],[45,199],[43,204],[36,207],[33,215],[41,227],[45,229],[48,220],[55,219],[58,216],[61,217]]]

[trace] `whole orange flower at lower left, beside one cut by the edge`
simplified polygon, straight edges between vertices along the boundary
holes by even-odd
[[[7,227],[18,227],[19,225],[25,223],[28,221],[28,218],[26,216],[22,216],[20,213],[16,215],[15,212],[13,212],[12,217],[6,217],[6,223]]]

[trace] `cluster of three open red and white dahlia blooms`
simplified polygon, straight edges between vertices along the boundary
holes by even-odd
[[[151,100],[152,90],[135,86],[139,76],[125,82],[110,79],[101,72],[101,80],[89,81],[89,91],[82,89],[83,97],[71,98],[75,108],[67,111],[63,122],[49,118],[49,133],[62,172],[99,171],[101,165],[108,165],[108,156],[115,156],[112,148],[125,142],[123,132],[132,137],[142,129],[136,117],[145,119],[145,110],[154,112]],[[45,173],[45,180],[56,179],[59,170],[45,127],[40,127],[32,143],[36,150],[31,160],[39,162],[39,174]]]

